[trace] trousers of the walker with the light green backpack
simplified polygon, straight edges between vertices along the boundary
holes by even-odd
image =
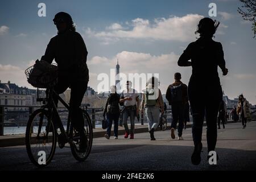
[[[156,107],[156,106],[146,107],[148,131],[151,131],[152,128],[157,129],[159,125],[159,115],[160,115],[159,107]]]

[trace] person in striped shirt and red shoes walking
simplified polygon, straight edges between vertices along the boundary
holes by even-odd
[[[126,82],[126,89],[121,93],[120,102],[123,103],[124,109],[122,111],[122,121],[125,126],[125,138],[134,139],[134,120],[135,116],[139,114],[139,94],[137,90],[131,88],[131,81]],[[131,129],[129,130],[127,119],[130,117]]]

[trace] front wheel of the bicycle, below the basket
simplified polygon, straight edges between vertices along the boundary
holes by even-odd
[[[35,110],[28,119],[26,148],[28,157],[35,166],[47,166],[53,158],[56,148],[56,132],[44,109]]]

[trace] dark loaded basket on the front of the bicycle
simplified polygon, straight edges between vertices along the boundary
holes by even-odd
[[[44,60],[36,63],[25,71],[27,81],[37,88],[49,88],[57,82],[57,65],[49,64]]]

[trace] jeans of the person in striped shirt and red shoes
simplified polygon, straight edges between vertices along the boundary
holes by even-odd
[[[136,115],[136,110],[133,109],[125,109],[123,111],[123,125],[125,126],[125,132],[127,134],[134,134],[134,120]],[[127,119],[130,116],[130,122],[131,122],[131,130],[129,130]]]

